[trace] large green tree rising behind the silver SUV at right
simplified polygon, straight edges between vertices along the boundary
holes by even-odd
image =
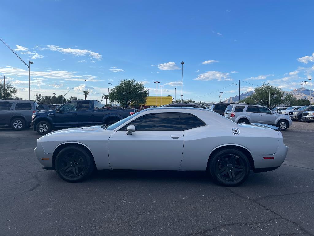
[[[269,83],[263,83],[261,87],[256,87],[254,90],[255,93],[242,99],[240,102],[268,106],[270,92],[269,107],[275,107],[283,103],[284,91],[281,88],[271,86]]]

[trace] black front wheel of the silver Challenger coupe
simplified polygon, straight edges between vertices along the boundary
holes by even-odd
[[[62,149],[55,160],[57,174],[68,182],[85,180],[94,171],[92,156],[77,146]]]

